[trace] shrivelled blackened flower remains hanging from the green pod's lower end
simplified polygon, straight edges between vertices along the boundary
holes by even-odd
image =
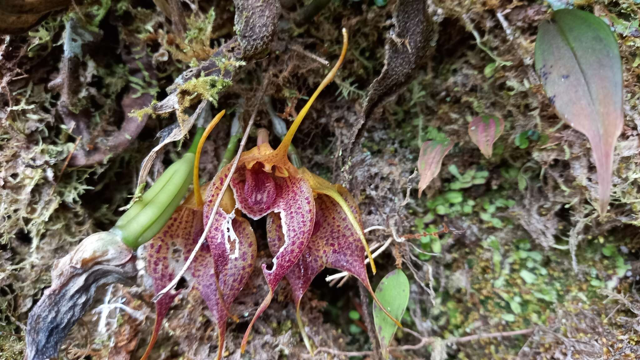
[[[36,304],[27,322],[26,360],[58,357],[67,333],[105,284],[132,285],[136,257],[114,233],[95,233],[54,264],[52,284]]]

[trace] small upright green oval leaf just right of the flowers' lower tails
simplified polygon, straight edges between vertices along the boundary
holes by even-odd
[[[394,318],[402,318],[409,302],[409,280],[404,272],[396,269],[387,274],[376,288],[376,297],[383,306],[387,307],[387,311]],[[380,340],[383,357],[388,359],[389,343],[396,333],[397,325],[376,303],[373,304],[373,322],[376,326],[376,334]]]

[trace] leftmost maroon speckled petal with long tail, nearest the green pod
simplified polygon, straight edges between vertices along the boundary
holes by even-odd
[[[158,293],[173,280],[174,272],[169,264],[171,242],[193,236],[193,227],[200,212],[180,206],[164,225],[163,229],[147,245],[147,273],[154,283],[154,291]],[[200,230],[202,233],[202,230]],[[170,291],[156,302],[156,325],[151,335],[147,351],[141,360],[147,359],[156,343],[158,333],[162,327],[164,316],[169,311],[173,299],[179,291]]]

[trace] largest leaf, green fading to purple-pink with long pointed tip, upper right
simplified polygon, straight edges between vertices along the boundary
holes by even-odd
[[[598,172],[600,214],[607,212],[613,152],[624,124],[618,42],[605,22],[575,9],[540,24],[536,70],[557,115],[587,136]]]

